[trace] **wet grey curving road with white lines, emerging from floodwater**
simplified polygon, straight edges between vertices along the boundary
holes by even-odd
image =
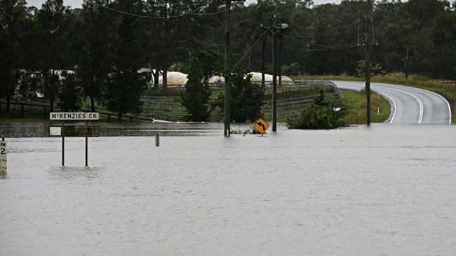
[[[360,91],[364,82],[333,81],[340,89]],[[401,124],[451,124],[451,109],[440,94],[403,85],[370,83],[370,89],[388,99],[391,115],[385,122]]]

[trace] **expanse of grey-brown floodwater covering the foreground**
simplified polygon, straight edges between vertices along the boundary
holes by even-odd
[[[456,255],[455,126],[213,126],[7,138],[0,255]]]

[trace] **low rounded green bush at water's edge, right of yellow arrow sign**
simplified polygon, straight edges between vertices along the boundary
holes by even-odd
[[[347,125],[347,107],[342,99],[326,99],[323,91],[314,102],[304,106],[300,118],[287,120],[288,129],[335,129]]]

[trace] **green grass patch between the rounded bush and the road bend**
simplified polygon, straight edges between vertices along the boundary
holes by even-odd
[[[342,90],[344,103],[347,104],[349,111],[345,121],[349,125],[366,123],[366,91],[361,92]],[[378,111],[378,113],[377,113]],[[384,97],[371,91],[370,94],[370,122],[384,122],[389,118],[391,108],[389,102]]]

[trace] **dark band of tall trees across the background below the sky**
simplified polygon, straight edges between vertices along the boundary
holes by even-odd
[[[455,79],[455,8],[438,0],[233,1],[232,63],[256,43],[236,72],[271,73],[272,34],[264,27],[276,15],[288,24],[277,34],[284,74],[362,73],[366,15],[376,71],[405,71],[408,52],[410,72]],[[137,112],[145,88],[137,71],[179,70],[208,45],[223,52],[224,10],[220,0],[86,0],[82,8],[0,0],[0,97],[40,92],[69,110],[87,97],[93,108],[98,101],[119,114]]]

